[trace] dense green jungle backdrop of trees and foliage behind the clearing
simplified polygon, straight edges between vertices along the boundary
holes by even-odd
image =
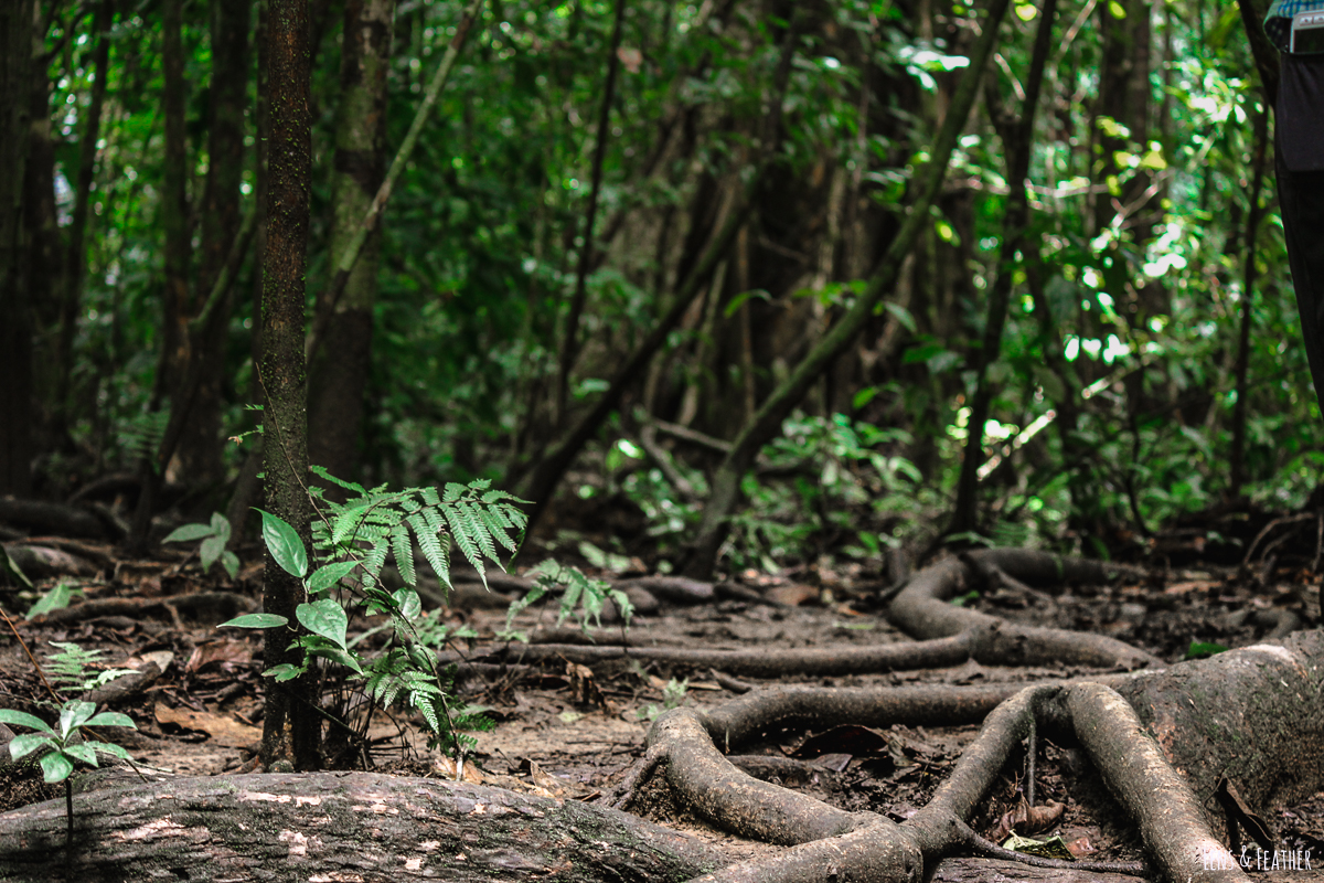
[[[228,440],[262,420],[282,162],[266,4],[13,9],[0,495],[99,494],[127,524],[156,482],[152,508],[234,520],[260,503],[261,440]],[[986,12],[959,0],[469,11],[459,45],[459,3],[311,1],[308,455],[331,474],[487,478],[548,544],[605,531],[663,568],[708,499],[710,561],[739,568],[944,531],[1125,555],[1316,486],[1235,5],[1014,0],[949,159]]]

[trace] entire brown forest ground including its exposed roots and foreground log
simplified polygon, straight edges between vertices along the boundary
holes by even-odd
[[[64,788],[0,765],[0,880],[1324,879],[1319,523],[1256,527],[1241,563],[1174,534],[1132,565],[977,551],[903,582],[636,561],[602,573],[629,629],[535,606],[528,643],[495,638],[522,580],[461,572],[433,616],[477,633],[442,653],[495,728],[457,769],[379,711],[322,773],[257,769],[260,638],[214,629],[261,564],[19,539],[82,598],[7,626],[0,707],[49,695],[25,647],[77,642],[138,670],[95,696],[138,731],[135,769],[75,774],[71,847]],[[1181,662],[1193,642],[1234,650]]]

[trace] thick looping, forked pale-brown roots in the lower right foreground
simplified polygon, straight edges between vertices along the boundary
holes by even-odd
[[[649,731],[649,752],[662,755],[657,760],[666,764],[667,781],[687,805],[737,834],[792,846],[773,859],[733,864],[696,883],[919,880],[925,867],[972,847],[968,819],[1035,721],[1074,725],[1104,780],[1137,817],[1156,864],[1170,879],[1246,879],[1210,833],[1185,781],[1143,732],[1135,711],[1099,683],[1029,687],[1001,703],[933,800],[902,825],[757,781],[716,748],[792,718],[813,718],[824,725],[841,720],[876,725],[888,718],[956,723],[996,700],[993,691],[972,695],[963,690],[945,703],[916,703],[925,692],[780,688],[768,691],[767,702],[763,694],[749,694],[708,714],[678,708],[658,718]],[[912,703],[915,716],[892,716]]]

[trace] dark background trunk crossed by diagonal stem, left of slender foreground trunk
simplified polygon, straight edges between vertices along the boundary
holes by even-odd
[[[248,3],[212,1],[212,113],[195,299],[205,298],[212,291],[240,230],[244,110],[249,83],[248,32]],[[179,467],[191,483],[207,488],[216,488],[224,481],[221,384],[232,301],[230,295],[224,298],[220,315],[211,323],[207,335],[197,339],[197,351],[189,353],[191,359],[200,361],[200,380],[179,443]],[[195,318],[200,308],[203,304],[195,304],[188,318]],[[176,402],[176,406],[179,404],[183,402]]]

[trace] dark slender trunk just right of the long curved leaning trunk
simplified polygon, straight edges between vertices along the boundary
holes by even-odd
[[[1012,283],[1016,278],[1017,253],[1021,252],[1025,228],[1030,217],[1029,197],[1025,183],[1030,175],[1030,154],[1034,148],[1034,118],[1039,103],[1039,89],[1043,85],[1043,69],[1051,49],[1053,21],[1057,13],[1057,0],[1045,0],[1039,9],[1039,28],[1034,36],[1034,54],[1030,58],[1030,71],[1025,78],[1025,106],[1019,119],[1004,120],[1001,128],[1002,150],[1008,158],[1008,184],[1012,195],[1006,201],[1002,218],[1002,248],[998,254],[997,278],[989,290],[988,315],[984,323],[984,342],[974,353],[974,397],[970,401],[970,418],[967,422],[969,436],[965,440],[965,458],[956,485],[956,506],[948,531],[960,534],[978,527],[978,467],[984,462],[984,425],[989,418],[993,401],[993,388],[989,383],[989,365],[1002,352],[1002,328],[1006,326],[1006,311],[1012,301]],[[989,85],[994,106],[1001,105],[996,85]],[[996,103],[994,103],[996,102]]]

